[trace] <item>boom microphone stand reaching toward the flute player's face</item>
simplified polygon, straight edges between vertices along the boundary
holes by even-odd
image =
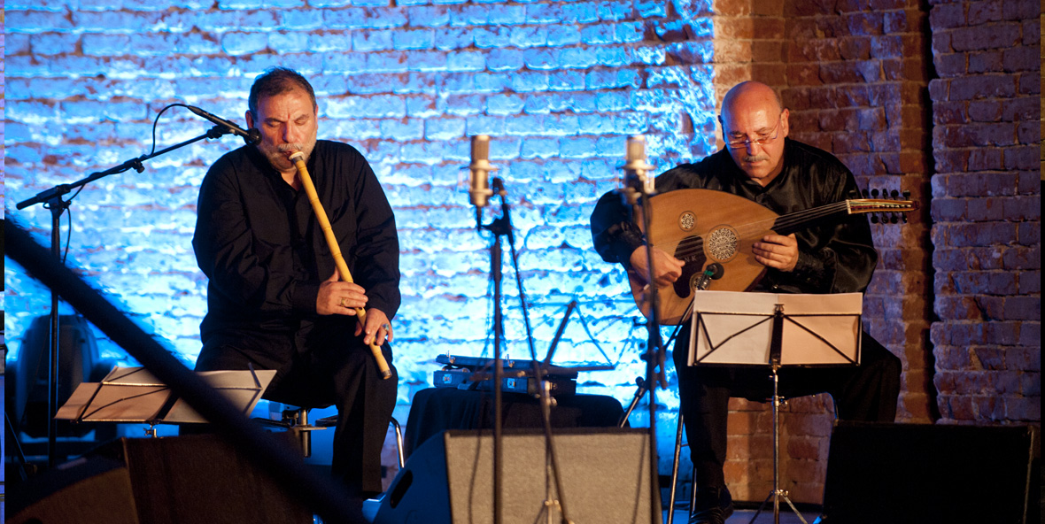
[[[73,194],[68,200],[63,200],[62,197],[76,188],[80,188],[94,182],[98,178],[109,176],[110,174],[122,173],[129,169],[134,169],[139,173],[145,170],[145,166],[142,162],[149,160],[154,157],[159,157],[161,154],[170,152],[175,149],[179,149],[193,142],[198,142],[205,138],[219,138],[223,135],[232,133],[230,129],[223,127],[220,125],[215,125],[210,128],[206,134],[195,137],[193,139],[186,140],[180,144],[172,145],[166,149],[162,149],[149,154],[143,154],[141,157],[131,159],[118,166],[109,168],[104,171],[98,171],[91,173],[87,177],[74,182],[72,184],[59,184],[50,189],[46,189],[37,193],[36,196],[27,198],[18,203],[16,209],[25,209],[29,206],[41,204],[45,209],[51,212],[51,255],[55,260],[62,262],[62,240],[60,235],[62,214],[69,209],[69,204],[72,198],[78,194]],[[72,225],[70,225],[71,228]],[[57,461],[57,421],[54,415],[59,411],[59,293],[54,288],[51,288],[51,313],[50,313],[50,346],[48,349],[48,374],[47,374],[47,467],[54,468]],[[16,435],[17,438],[17,435]]]

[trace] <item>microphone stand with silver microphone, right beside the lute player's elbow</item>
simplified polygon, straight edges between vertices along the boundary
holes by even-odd
[[[629,140],[630,142],[630,140]],[[651,167],[645,162],[645,156],[642,159],[628,159],[629,162],[625,167],[625,177],[624,187],[620,190],[622,198],[624,198],[625,206],[633,208],[635,203],[642,203],[643,211],[643,231],[647,232],[648,235],[651,231],[652,222],[652,212],[650,209],[650,196],[654,194],[653,181],[649,177],[646,170]],[[633,214],[633,213],[632,213]],[[660,313],[659,313],[659,301],[657,297],[656,284],[654,283],[654,269],[653,269],[653,247],[649,242],[646,245],[646,260],[648,262],[648,271],[646,280],[649,282],[648,294],[650,301],[650,313],[646,319],[646,354],[643,358],[646,360],[646,386],[650,394],[650,404],[649,404],[649,418],[650,418],[650,438],[649,438],[649,460],[650,460],[650,524],[659,522],[658,517],[660,514],[659,504],[657,500],[659,499],[659,474],[657,471],[657,449],[656,449],[656,386],[659,382],[656,377],[656,366],[660,365],[660,371],[664,372],[664,347],[660,340]],[[670,510],[670,508],[669,508]]]

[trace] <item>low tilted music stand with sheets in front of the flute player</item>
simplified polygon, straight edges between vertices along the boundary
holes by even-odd
[[[250,414],[276,376],[275,370],[200,372],[200,377],[228,398],[243,414]],[[113,367],[101,382],[80,383],[55,419],[73,422],[136,422],[157,424],[206,423],[170,387],[144,367]]]

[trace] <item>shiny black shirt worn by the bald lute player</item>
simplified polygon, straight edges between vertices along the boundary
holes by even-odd
[[[776,214],[860,198],[853,173],[834,156],[785,139],[784,168],[762,187],[737,167],[725,148],[696,164],[682,164],[656,177],[657,193],[675,189],[712,189],[753,200]],[[643,245],[642,231],[614,192],[606,193],[591,214],[595,248],[607,262],[627,265]],[[756,290],[793,293],[862,292],[878,261],[866,217],[851,215],[795,233],[798,261],[791,272],[769,268]]]

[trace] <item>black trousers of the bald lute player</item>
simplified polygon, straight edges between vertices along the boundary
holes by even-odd
[[[892,422],[900,397],[901,362],[867,333],[862,333],[859,366],[784,367],[779,390],[784,397],[828,392],[838,418],[850,421]],[[696,485],[722,487],[726,452],[726,416],[730,397],[765,402],[772,398],[766,367],[690,366],[689,331],[682,330],[673,358],[678,371],[679,410],[686,420]]]

